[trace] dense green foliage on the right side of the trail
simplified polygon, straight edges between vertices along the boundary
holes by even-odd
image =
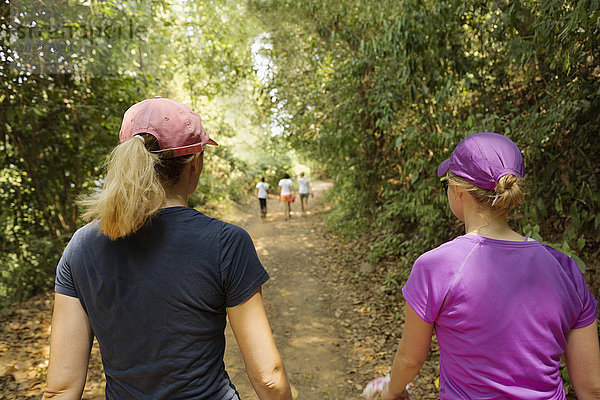
[[[265,112],[332,174],[333,229],[406,268],[461,232],[437,165],[503,133],[531,184],[513,223],[584,268],[600,247],[596,3],[252,1],[271,21]]]

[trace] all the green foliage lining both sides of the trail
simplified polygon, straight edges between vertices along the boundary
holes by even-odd
[[[311,160],[335,180],[332,229],[401,268],[461,232],[438,163],[468,134],[506,134],[531,183],[513,223],[589,266],[600,247],[597,3],[77,3],[48,22],[72,26],[82,49],[45,54],[56,73],[34,70],[35,57],[17,63],[2,35],[0,295],[6,304],[51,287],[81,224],[74,199],[101,178],[124,110],[152,95],[200,110],[221,144],[207,151],[193,205],[239,200],[263,175],[276,187],[293,161]],[[133,36],[82,34],[123,21]],[[272,67],[256,74],[258,38]]]

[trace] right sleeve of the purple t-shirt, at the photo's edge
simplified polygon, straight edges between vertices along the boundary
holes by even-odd
[[[580,302],[581,312],[577,322],[572,326],[572,329],[588,326],[598,318],[598,300],[594,298],[594,295],[592,295],[592,292],[585,283],[585,278],[583,277],[577,262],[551,246],[546,244],[544,244],[544,246],[562,266],[577,293],[577,299],[575,300]]]

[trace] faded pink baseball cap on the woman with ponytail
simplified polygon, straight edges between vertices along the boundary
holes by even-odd
[[[140,133],[156,138],[164,158],[200,153],[204,146],[218,146],[202,127],[200,115],[175,100],[157,96],[131,106],[123,116],[119,140],[126,142]]]

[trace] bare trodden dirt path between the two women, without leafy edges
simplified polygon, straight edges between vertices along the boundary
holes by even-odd
[[[348,382],[343,330],[324,293],[328,287],[320,265],[323,259],[318,210],[323,190],[314,185],[306,216],[298,202],[292,218],[284,220],[283,204],[269,199],[266,222],[258,216],[258,202],[240,207],[228,220],[245,228],[254,240],[259,257],[271,275],[264,286],[264,301],[295,398],[354,399],[359,392]],[[225,356],[227,370],[242,399],[258,399],[250,386],[235,338],[228,329]]]

